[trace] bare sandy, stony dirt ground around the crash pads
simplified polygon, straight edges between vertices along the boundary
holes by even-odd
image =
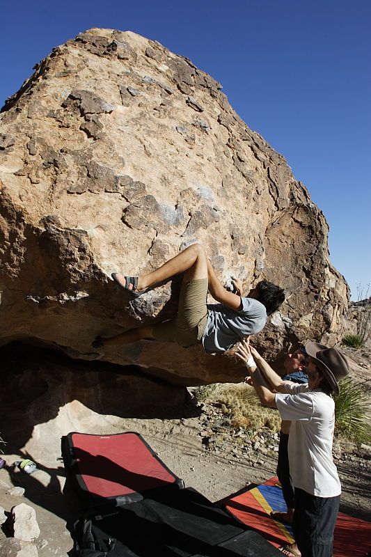
[[[347,349],[345,352],[356,366],[355,376],[368,391],[369,351]],[[161,460],[184,480],[186,487],[194,487],[213,502],[274,476],[278,435],[262,428],[254,432],[251,439],[241,428],[236,430],[226,423],[220,405],[198,402],[195,393],[197,395],[197,389],[191,390],[188,402],[182,406],[171,411],[157,411],[155,418],[148,418],[146,414],[140,418],[104,416],[101,431],[97,433],[139,432]],[[148,416],[153,415],[148,409]],[[19,455],[4,455],[9,463],[17,457]],[[371,447],[336,441],[334,458],[342,482],[341,510],[371,521]],[[80,510],[73,494],[61,493],[64,481],[63,462],[58,458],[53,466],[39,466],[31,476],[11,473],[10,469],[0,470],[0,505],[6,514],[19,503],[35,508],[41,531],[35,540],[39,557],[73,555],[66,523],[74,521]],[[24,487],[23,496],[9,493],[15,485]],[[2,538],[9,535],[6,527],[3,530]]]

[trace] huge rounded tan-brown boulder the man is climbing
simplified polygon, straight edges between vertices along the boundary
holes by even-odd
[[[348,289],[328,226],[285,159],[221,85],[158,42],[90,29],[56,47],[0,115],[0,342],[77,359],[97,334],[164,320],[179,281],[131,301],[111,272],[148,272],[202,242],[222,281],[287,291],[255,345],[335,343]],[[233,357],[143,341],[100,358],[176,384],[237,381]]]

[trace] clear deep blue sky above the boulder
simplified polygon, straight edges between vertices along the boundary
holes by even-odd
[[[370,0],[20,0],[0,24],[0,105],[52,48],[90,27],[158,40],[221,82],[330,226],[357,299],[371,281]]]

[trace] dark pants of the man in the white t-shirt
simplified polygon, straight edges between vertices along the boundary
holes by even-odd
[[[295,487],[292,529],[301,557],[332,557],[339,505],[340,495],[316,497]]]

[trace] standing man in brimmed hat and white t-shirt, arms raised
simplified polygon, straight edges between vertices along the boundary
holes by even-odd
[[[333,531],[340,505],[341,485],[333,463],[332,444],[338,380],[349,373],[345,357],[336,350],[308,341],[305,345],[308,383],[283,379],[245,340],[237,355],[250,356],[251,382],[262,405],[277,408],[291,421],[288,454],[295,501],[292,529],[295,542],[281,547],[287,557],[332,557]],[[270,385],[276,393],[272,393]]]

